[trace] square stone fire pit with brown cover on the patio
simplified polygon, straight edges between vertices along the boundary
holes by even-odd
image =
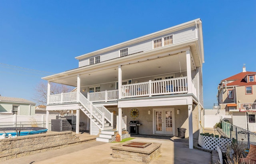
[[[129,142],[111,146],[112,157],[149,163],[160,155],[161,143]]]

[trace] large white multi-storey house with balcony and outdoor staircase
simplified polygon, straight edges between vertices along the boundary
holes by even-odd
[[[113,128],[112,113],[118,115],[120,134],[126,128],[124,116],[128,130],[130,121],[139,121],[140,134],[178,136],[177,128],[186,128],[193,148],[203,109],[200,19],[76,59],[78,68],[42,78],[48,81],[47,111],[77,110],[77,120],[80,115],[88,120],[90,134]],[[77,91],[50,95],[50,82],[74,86]]]

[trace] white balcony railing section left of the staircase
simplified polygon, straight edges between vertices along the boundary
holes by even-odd
[[[48,104],[58,103],[72,103],[77,101],[76,92],[60,93],[56,95],[50,95],[48,97]]]

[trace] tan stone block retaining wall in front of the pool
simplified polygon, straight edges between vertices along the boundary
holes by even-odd
[[[0,139],[0,161],[56,150],[87,141],[79,140],[79,137],[71,131],[4,138]]]

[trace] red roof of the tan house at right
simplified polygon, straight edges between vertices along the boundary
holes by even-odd
[[[244,78],[247,75],[256,75],[256,72],[249,72],[249,71],[241,72],[241,73],[238,73],[236,75],[230,76],[230,77],[228,77],[226,79],[223,79],[222,81],[225,81],[225,80],[226,81],[233,81],[234,80],[232,83],[227,83],[227,86],[233,86],[233,85],[237,85],[237,86],[256,85],[256,79],[254,79],[253,82],[246,83]]]

